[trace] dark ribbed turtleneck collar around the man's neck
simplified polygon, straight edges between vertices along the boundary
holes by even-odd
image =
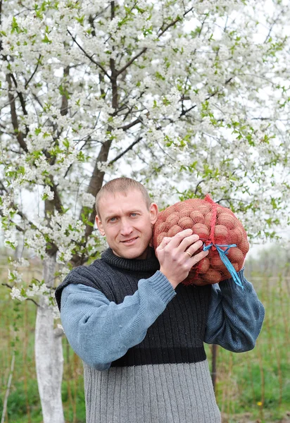
[[[108,248],[101,255],[101,259],[111,264],[111,266],[118,267],[119,269],[130,270],[130,271],[156,271],[160,268],[158,259],[152,250],[152,255],[148,259],[139,260],[139,259],[124,259],[123,257],[118,257],[114,255],[111,248]]]

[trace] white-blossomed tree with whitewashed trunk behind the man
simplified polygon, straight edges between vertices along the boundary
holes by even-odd
[[[0,213],[43,263],[27,289],[11,260],[9,284],[38,305],[44,423],[64,422],[56,263],[97,257],[105,180],[160,204],[211,192],[252,237],[287,223],[289,18],[283,0],[0,0]]]

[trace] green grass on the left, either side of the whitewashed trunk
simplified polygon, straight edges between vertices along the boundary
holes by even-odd
[[[36,306],[10,298],[0,285],[0,417],[6,392],[11,358],[15,354],[13,379],[5,422],[41,423],[42,411],[34,362],[34,324]],[[65,422],[84,423],[82,362],[63,338],[65,357],[62,398]]]

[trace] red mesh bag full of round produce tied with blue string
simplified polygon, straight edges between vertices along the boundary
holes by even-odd
[[[158,214],[153,228],[153,247],[156,250],[165,236],[172,237],[191,228],[203,241],[199,251],[209,250],[208,256],[195,264],[182,283],[208,285],[227,278],[241,286],[237,275],[248,252],[246,231],[234,213],[213,202],[190,199],[177,202]]]

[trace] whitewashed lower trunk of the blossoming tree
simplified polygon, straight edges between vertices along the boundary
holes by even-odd
[[[53,286],[56,257],[44,260],[44,281]],[[35,364],[44,423],[65,423],[61,400],[63,348],[61,332],[53,329],[53,312],[40,300],[35,326]]]

